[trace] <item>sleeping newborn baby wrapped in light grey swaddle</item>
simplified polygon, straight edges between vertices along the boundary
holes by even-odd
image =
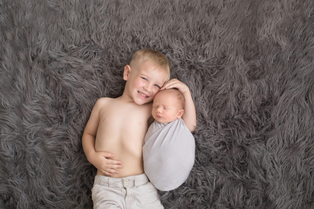
[[[155,119],[143,145],[144,171],[161,191],[176,189],[187,180],[195,158],[195,141],[184,124],[184,96],[175,89],[159,91],[154,97]]]

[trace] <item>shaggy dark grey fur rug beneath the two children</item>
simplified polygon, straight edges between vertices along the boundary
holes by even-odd
[[[81,136],[142,48],[197,111],[165,208],[314,208],[312,0],[0,0],[0,29],[0,208],[92,208]]]

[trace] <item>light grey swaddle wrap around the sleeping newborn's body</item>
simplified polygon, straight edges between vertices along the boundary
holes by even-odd
[[[161,191],[176,189],[187,180],[195,159],[195,141],[182,119],[152,123],[144,138],[144,171]]]

